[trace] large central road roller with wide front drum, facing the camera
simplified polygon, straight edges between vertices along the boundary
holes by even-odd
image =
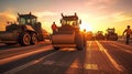
[[[63,15],[61,19],[61,27],[56,33],[52,34],[52,44],[55,50],[61,47],[76,47],[82,50],[85,47],[85,34],[80,32],[78,15]]]

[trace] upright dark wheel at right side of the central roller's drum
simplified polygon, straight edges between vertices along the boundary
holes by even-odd
[[[76,49],[77,50],[82,50],[84,49],[84,40],[81,34],[76,35]]]

